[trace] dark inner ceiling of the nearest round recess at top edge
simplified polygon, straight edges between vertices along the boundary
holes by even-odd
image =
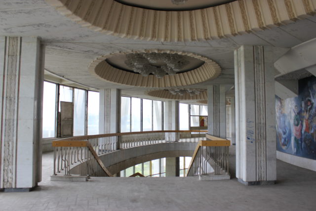
[[[116,0],[120,3],[158,10],[192,10],[216,6],[233,0],[187,0],[184,4],[173,4],[171,0]]]

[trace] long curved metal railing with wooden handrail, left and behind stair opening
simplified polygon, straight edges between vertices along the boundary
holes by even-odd
[[[80,175],[112,176],[99,156],[119,149],[168,142],[198,142],[207,130],[158,130],[76,136],[52,142],[53,175],[70,176],[79,165]]]

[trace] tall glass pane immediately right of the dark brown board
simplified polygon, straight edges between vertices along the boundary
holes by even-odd
[[[75,88],[74,135],[84,135],[85,131],[85,90]]]

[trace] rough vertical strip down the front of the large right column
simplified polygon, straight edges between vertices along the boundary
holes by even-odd
[[[266,91],[263,46],[254,46],[257,181],[266,180]]]

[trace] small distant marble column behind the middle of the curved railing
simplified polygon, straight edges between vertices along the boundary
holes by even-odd
[[[179,130],[179,101],[165,101],[164,130]],[[166,134],[166,141],[178,141],[178,133]]]

